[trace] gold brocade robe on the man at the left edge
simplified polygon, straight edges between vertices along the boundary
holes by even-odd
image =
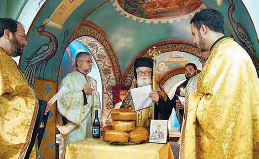
[[[0,47],[0,159],[25,157],[37,111],[34,90],[15,61]]]

